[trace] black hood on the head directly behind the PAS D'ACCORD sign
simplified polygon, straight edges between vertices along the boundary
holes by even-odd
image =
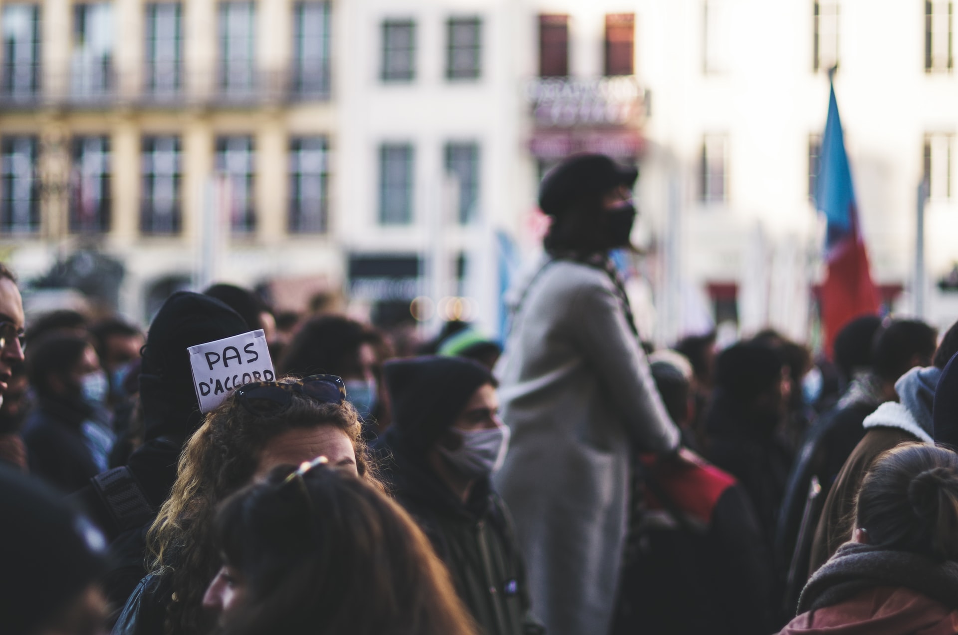
[[[187,348],[222,340],[249,327],[239,314],[208,295],[172,294],[149,325],[140,375],[147,438],[187,436],[199,421],[193,369]],[[159,411],[167,416],[153,416]]]

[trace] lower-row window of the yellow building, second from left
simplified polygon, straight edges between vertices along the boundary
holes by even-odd
[[[70,231],[91,233],[110,228],[110,138],[73,140],[70,174]]]

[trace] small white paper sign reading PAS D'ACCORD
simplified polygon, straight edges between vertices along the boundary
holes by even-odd
[[[276,379],[262,329],[196,344],[187,350],[201,412],[210,412],[223,403],[233,388]]]

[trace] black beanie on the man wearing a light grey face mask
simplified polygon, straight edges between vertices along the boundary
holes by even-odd
[[[452,427],[469,397],[495,385],[489,369],[461,357],[417,357],[382,366],[393,408],[393,428],[418,450],[426,450]]]

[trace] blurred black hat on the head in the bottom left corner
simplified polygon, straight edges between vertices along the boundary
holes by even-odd
[[[49,487],[0,466],[0,623],[32,633],[104,569],[106,541]]]

